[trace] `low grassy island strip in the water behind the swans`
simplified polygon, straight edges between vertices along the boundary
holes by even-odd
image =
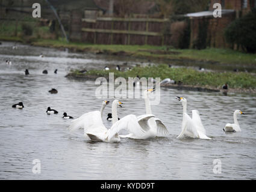
[[[181,81],[183,85],[193,85],[211,88],[221,88],[224,83],[228,83],[229,88],[234,89],[256,89],[256,76],[249,73],[217,73],[200,72],[191,68],[169,68],[167,65],[158,65],[153,67],[134,67],[131,71],[104,71],[90,70],[87,73],[80,73],[78,70],[72,71],[69,76],[85,77],[108,77],[109,72],[114,72],[115,77],[160,77],[161,80],[170,78]]]

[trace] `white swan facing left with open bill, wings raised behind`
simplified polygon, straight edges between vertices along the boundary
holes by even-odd
[[[199,139],[211,139],[206,136],[204,125],[202,125],[198,110],[192,110],[192,119],[187,115],[187,100],[183,97],[176,97],[183,104],[183,124],[178,139],[187,136]]]

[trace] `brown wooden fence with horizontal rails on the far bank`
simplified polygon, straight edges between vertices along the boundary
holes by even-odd
[[[96,17],[82,19],[81,40],[95,44],[170,44],[170,20]]]

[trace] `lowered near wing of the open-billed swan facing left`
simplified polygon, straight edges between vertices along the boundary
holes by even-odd
[[[187,113],[183,114],[183,125],[182,125],[182,131],[180,135],[177,138],[181,138],[186,134],[186,132],[189,132],[194,137],[198,137],[198,131],[196,130],[196,125],[192,121],[189,115]]]

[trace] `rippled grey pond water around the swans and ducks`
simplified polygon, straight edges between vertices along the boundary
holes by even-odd
[[[167,125],[167,137],[90,142],[82,130],[70,134],[70,119],[61,115],[67,112],[76,118],[99,110],[102,100],[95,98],[97,86],[64,76],[70,68],[103,68],[126,61],[21,44],[12,50],[11,46],[7,42],[0,46],[0,179],[256,179],[255,95],[161,88],[161,103],[152,111]],[[45,58],[39,58],[40,53]],[[6,59],[13,63],[10,67]],[[25,68],[29,76],[23,74]],[[45,69],[47,75],[42,74]],[[49,94],[51,88],[58,94]],[[199,110],[212,140],[176,139],[182,122],[177,95],[187,98],[189,115],[192,109]],[[13,109],[11,105],[19,101],[25,108]],[[143,99],[122,101],[120,117],[145,113]],[[59,114],[46,115],[48,106]],[[239,116],[242,132],[225,134],[222,128],[233,122],[236,109],[246,113]],[[104,117],[110,111],[107,106]],[[105,118],[104,124],[111,126]],[[40,174],[32,172],[34,159],[41,162]],[[215,159],[222,163],[220,174],[213,173]]]

